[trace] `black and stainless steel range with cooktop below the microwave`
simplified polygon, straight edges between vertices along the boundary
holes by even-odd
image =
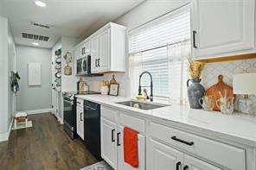
[[[68,91],[63,92],[64,130],[71,139],[78,137],[76,134],[76,98],[75,95],[99,94],[95,91]]]

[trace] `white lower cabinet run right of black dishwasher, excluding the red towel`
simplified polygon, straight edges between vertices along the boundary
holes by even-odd
[[[138,168],[124,161],[124,127],[138,131]],[[255,151],[220,141],[101,106],[101,156],[115,170],[255,169]]]

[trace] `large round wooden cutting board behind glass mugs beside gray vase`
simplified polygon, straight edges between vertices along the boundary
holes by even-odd
[[[219,91],[221,91],[221,95],[219,93]],[[219,75],[218,76],[218,83],[215,85],[212,85],[211,87],[208,88],[208,90],[206,91],[206,95],[207,96],[212,96],[214,99],[214,110],[220,111],[220,108],[218,108],[218,106],[216,105],[216,101],[219,100],[222,97],[225,96],[225,91],[226,91],[226,95],[227,97],[235,97],[234,93],[233,93],[233,88],[229,85],[226,85],[223,82],[223,76]]]

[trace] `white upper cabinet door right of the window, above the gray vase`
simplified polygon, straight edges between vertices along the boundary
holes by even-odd
[[[193,0],[195,60],[253,49],[255,0]]]

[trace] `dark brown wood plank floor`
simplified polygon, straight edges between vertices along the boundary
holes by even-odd
[[[78,170],[96,162],[80,139],[71,140],[50,113],[31,115],[33,128],[12,130],[0,142],[0,170]]]

